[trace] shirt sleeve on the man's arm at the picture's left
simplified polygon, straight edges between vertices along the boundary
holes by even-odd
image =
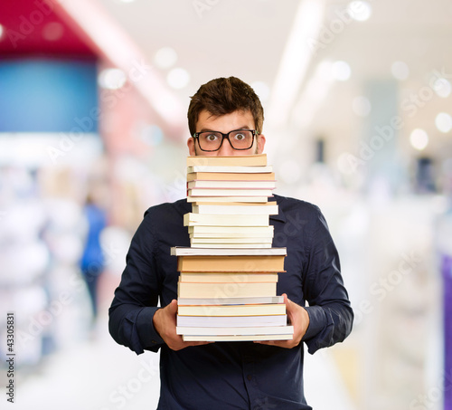
[[[145,215],[132,238],[126,269],[108,310],[112,338],[137,355],[145,349],[156,352],[165,343],[153,323],[160,289],[156,252],[151,217]]]

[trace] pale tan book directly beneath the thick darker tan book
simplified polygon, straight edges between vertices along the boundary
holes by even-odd
[[[187,283],[276,283],[278,272],[181,272],[179,281]]]

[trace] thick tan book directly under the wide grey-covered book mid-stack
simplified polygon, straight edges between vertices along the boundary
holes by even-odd
[[[195,251],[201,251],[197,248]],[[235,249],[236,251],[238,249]],[[253,249],[252,251],[268,249]],[[227,250],[224,250],[227,251]],[[284,255],[211,255],[179,256],[178,272],[285,272]]]

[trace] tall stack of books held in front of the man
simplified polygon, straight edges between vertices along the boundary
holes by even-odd
[[[177,256],[177,334],[184,340],[287,340],[286,305],[277,296],[286,248],[272,248],[268,202],[275,175],[266,155],[188,157],[184,215],[191,247]]]

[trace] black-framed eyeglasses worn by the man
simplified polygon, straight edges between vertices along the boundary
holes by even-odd
[[[234,129],[227,134],[219,131],[195,132],[193,138],[198,139],[198,145],[202,151],[212,152],[221,148],[224,138],[228,139],[234,149],[250,149],[256,135],[258,134],[255,129]]]

